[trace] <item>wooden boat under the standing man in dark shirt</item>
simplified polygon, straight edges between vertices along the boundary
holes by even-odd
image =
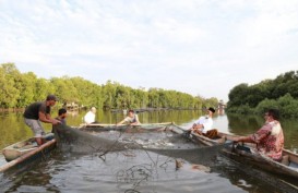
[[[0,172],[25,161],[36,159],[38,155],[44,155],[53,149],[56,146],[53,134],[49,133],[45,138],[47,142],[40,146],[37,146],[35,138],[32,137],[3,148],[2,154],[8,162],[0,167]]]

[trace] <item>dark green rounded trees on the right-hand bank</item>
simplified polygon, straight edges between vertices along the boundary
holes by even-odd
[[[228,112],[263,113],[269,108],[276,108],[283,117],[297,118],[298,71],[289,71],[254,85],[239,84],[229,92],[228,98]]]

